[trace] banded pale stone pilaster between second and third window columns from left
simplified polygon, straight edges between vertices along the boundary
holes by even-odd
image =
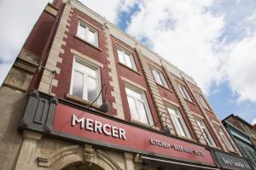
[[[143,54],[140,52],[139,49],[136,48],[137,57],[140,61],[140,64],[143,68],[144,76],[146,77],[146,81],[148,82],[149,92],[154,100],[154,106],[156,111],[160,117],[160,122],[162,127],[169,127],[171,129],[171,133],[175,134],[174,128],[172,126],[172,122],[170,119],[168,112],[166,111],[166,106],[160,96],[160,92],[157,88],[157,84],[154,81],[154,77],[152,75],[152,71],[149,69],[148,61],[145,59]]]

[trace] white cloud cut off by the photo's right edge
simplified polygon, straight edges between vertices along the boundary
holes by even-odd
[[[256,31],[227,47],[225,72],[238,101],[256,102]]]

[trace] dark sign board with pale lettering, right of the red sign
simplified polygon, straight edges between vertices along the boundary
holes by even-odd
[[[218,150],[212,150],[212,152],[220,167],[232,170],[253,170],[248,161],[240,156],[233,156]]]

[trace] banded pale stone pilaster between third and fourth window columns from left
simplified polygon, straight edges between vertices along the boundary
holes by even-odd
[[[166,71],[165,67],[164,67],[164,70]],[[195,133],[196,140],[198,142],[200,142],[201,144],[207,144],[205,139],[201,135],[201,130],[199,129],[197,123],[195,122],[195,118],[194,118],[193,114],[190,112],[189,107],[188,107],[185,99],[183,98],[183,94],[181,94],[181,92],[177,86],[177,81],[175,80],[175,78],[171,72],[166,71],[166,75],[169,79],[169,82],[171,82],[171,84],[172,84],[173,91],[176,94],[177,99],[183,108],[183,111],[185,112],[186,116],[188,117],[189,124],[192,127],[193,132]]]

